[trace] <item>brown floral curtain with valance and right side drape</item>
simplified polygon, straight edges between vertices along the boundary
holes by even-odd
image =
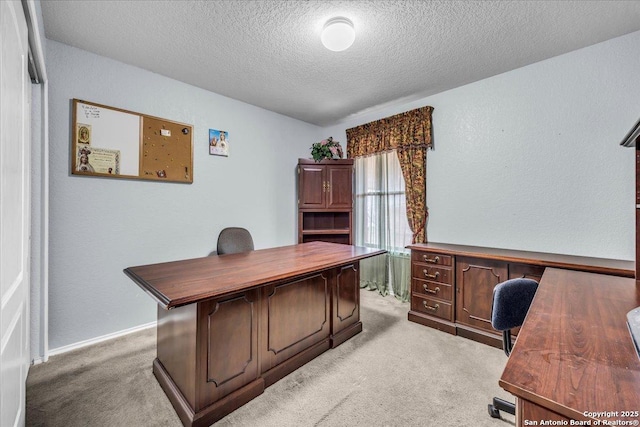
[[[347,157],[396,150],[406,185],[413,243],[427,241],[427,149],[433,148],[431,113],[422,107],[347,129]]]

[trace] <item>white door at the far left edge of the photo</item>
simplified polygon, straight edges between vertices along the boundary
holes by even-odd
[[[29,369],[28,40],[19,1],[0,0],[0,426],[25,423]]]

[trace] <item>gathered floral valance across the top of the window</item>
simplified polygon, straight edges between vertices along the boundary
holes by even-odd
[[[354,158],[408,147],[432,148],[431,112],[421,107],[347,129],[347,157]]]

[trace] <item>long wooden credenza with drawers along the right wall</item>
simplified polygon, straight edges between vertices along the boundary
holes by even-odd
[[[512,249],[417,243],[411,249],[408,319],[502,348],[491,326],[493,288],[507,279],[540,281],[545,268],[634,277],[633,261]],[[513,331],[517,334],[517,330]]]

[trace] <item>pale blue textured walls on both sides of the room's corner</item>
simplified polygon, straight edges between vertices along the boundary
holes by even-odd
[[[638,46],[640,32],[320,129],[47,41],[50,348],[155,320],[127,266],[204,256],[229,225],[258,248],[295,243],[297,158],[423,105],[430,241],[633,259],[633,151],[617,144],[640,114]],[[70,175],[72,98],[193,124],[195,182]],[[230,132],[229,158],[208,155],[209,128]]]

